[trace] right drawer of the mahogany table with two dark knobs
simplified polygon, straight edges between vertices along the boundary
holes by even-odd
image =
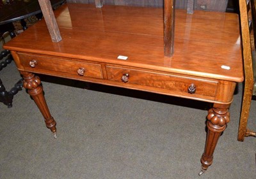
[[[218,86],[218,81],[194,77],[191,78],[188,76],[154,73],[137,69],[118,68],[113,66],[106,66],[106,69],[108,80],[120,83],[143,85],[145,87],[155,87],[157,89],[179,91],[186,94],[190,93],[191,95],[198,94],[214,97],[216,95]],[[122,81],[122,76],[127,79],[127,82]]]

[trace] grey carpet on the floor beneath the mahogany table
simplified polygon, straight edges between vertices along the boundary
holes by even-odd
[[[7,90],[20,79],[14,62],[0,71]],[[176,97],[42,77],[57,122],[55,140],[22,89],[0,103],[0,178],[256,178],[256,139],[237,141],[242,84],[214,162],[203,176],[207,110]],[[248,125],[256,130],[256,101]]]

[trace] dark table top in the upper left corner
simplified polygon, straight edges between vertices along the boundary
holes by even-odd
[[[51,0],[52,7],[64,3],[65,0]],[[0,6],[0,25],[36,15],[41,12],[38,0],[13,0]]]

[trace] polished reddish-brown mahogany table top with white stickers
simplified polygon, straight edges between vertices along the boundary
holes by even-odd
[[[68,57],[74,61],[243,81],[236,14],[195,11],[190,15],[185,10],[176,10],[173,57],[164,57],[162,8],[65,4],[55,15],[62,37],[60,42],[51,41],[42,20],[6,43],[4,48]],[[118,55],[128,59],[117,59]]]

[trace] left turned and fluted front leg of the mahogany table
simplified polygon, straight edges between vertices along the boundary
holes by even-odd
[[[36,105],[44,116],[46,127],[51,129],[56,138],[56,122],[51,116],[49,108],[45,102],[43,87],[41,85],[40,78],[35,76],[33,73],[20,71],[20,74],[24,78],[23,87],[28,89],[28,94],[33,97]]]

